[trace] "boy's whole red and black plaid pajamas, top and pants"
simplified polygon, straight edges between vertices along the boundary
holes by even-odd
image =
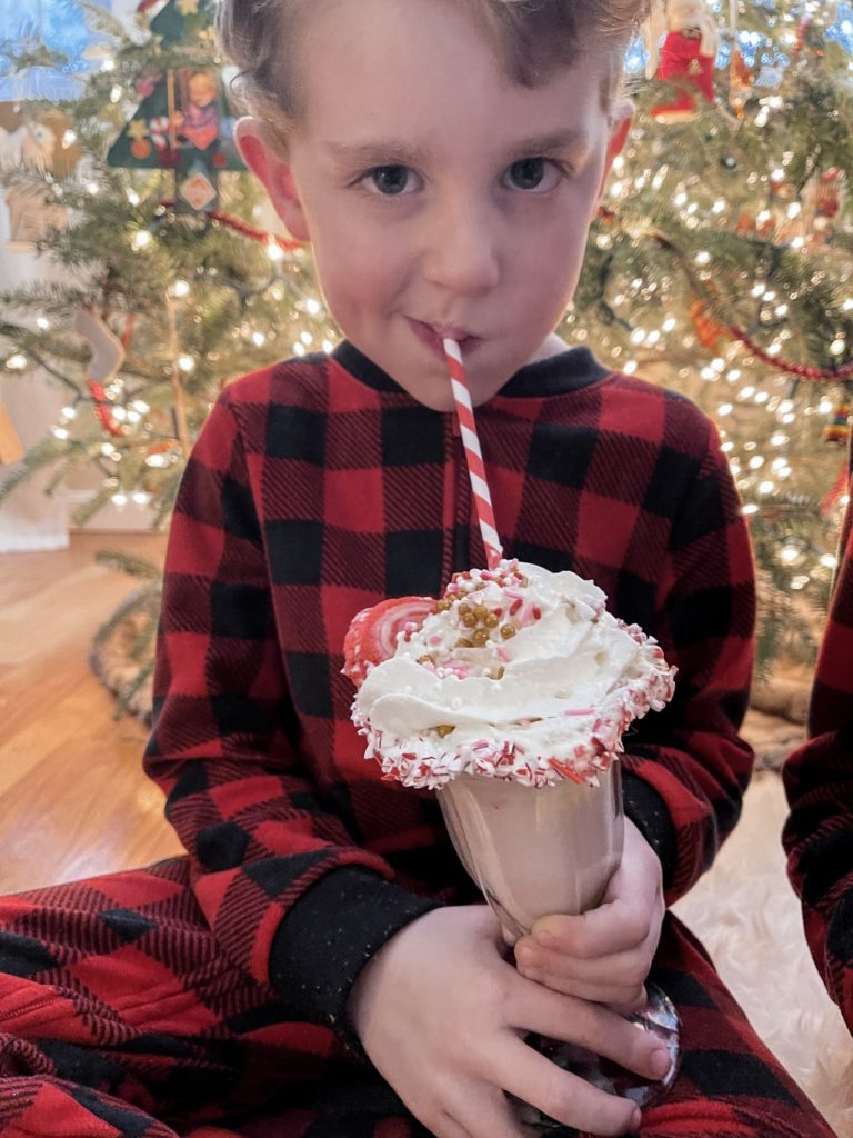
[[[674,900],[751,769],[753,570],[715,431],[585,349],[478,422],[506,553],[591,577],[678,666],[624,759]],[[423,1135],[347,1046],[347,997],[395,931],[481,898],[434,797],[364,761],[341,648],[358,609],[482,561],[454,417],[351,346],[224,393],[175,509],[146,756],[189,857],[2,902],[0,1132]],[[671,917],[655,979],[685,1055],[645,1138],[831,1133]]]

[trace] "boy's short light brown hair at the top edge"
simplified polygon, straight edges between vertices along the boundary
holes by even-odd
[[[272,142],[285,145],[298,121],[299,97],[285,44],[296,17],[317,0],[218,0],[223,48],[240,68],[241,89]],[[414,3],[416,0],[408,0]],[[523,86],[545,82],[583,52],[606,57],[602,100],[610,107],[622,75],[622,56],[647,14],[649,0],[447,0],[465,3],[495,41],[507,74]]]

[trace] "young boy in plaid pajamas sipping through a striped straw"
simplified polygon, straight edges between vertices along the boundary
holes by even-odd
[[[830,1133],[664,917],[750,776],[724,459],[689,403],[553,335],[628,129],[638,8],[225,0],[257,114],[241,150],[347,340],[234,384],[190,457],[147,752],[189,858],[5,904],[5,1133],[521,1138],[508,1096],[598,1135]],[[679,669],[628,740],[604,904],[539,922],[517,970],[434,797],[364,761],[341,675],[361,608],[483,562],[446,336],[507,555],[594,578]],[[653,958],[684,1057],[640,1119],[524,1040],[662,1077],[614,1009]]]

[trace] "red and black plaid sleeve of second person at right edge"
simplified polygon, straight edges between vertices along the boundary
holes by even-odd
[[[848,486],[853,492],[853,451]],[[809,734],[785,767],[790,815],[782,839],[809,946],[853,1030],[853,505],[842,533]]]

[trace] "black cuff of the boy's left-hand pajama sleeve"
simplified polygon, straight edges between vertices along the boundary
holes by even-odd
[[[270,981],[289,1014],[332,1028],[358,1047],[347,1012],[362,968],[405,925],[439,902],[359,866],[325,874],[279,925]]]

